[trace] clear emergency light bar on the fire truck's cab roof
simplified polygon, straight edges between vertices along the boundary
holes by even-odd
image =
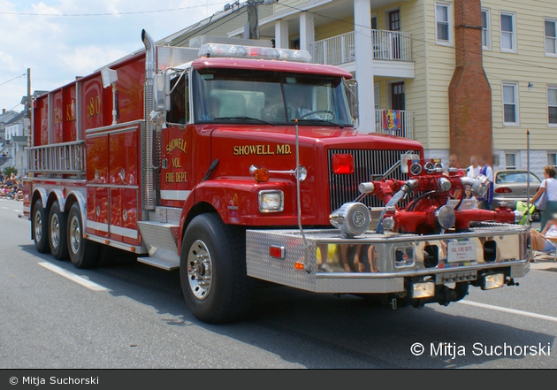
[[[199,57],[279,59],[283,61],[305,63],[311,61],[311,55],[306,50],[262,48],[257,46],[228,45],[221,43],[206,43],[202,45],[199,49]]]

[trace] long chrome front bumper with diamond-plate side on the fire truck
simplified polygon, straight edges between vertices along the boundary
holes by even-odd
[[[405,280],[475,284],[485,273],[514,279],[530,270],[524,226],[484,224],[468,233],[427,236],[366,233],[354,239],[340,238],[338,230],[305,233],[307,245],[298,230],[248,230],[248,275],[319,293],[386,294],[404,292]],[[271,256],[271,247],[284,258]],[[453,254],[461,247],[469,253]]]

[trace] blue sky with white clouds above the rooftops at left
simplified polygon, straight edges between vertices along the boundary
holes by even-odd
[[[0,0],[0,84],[31,68],[32,89],[50,90],[141,49],[141,29],[159,40],[232,0]],[[161,11],[118,15],[122,12]],[[190,8],[191,7],[191,8]],[[17,13],[17,14],[13,14]],[[24,15],[33,13],[39,15]],[[106,16],[49,16],[99,14]],[[0,109],[27,94],[21,77],[0,85]],[[21,110],[22,106],[15,107]]]

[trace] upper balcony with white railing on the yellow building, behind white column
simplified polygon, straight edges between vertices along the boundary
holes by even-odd
[[[385,77],[414,77],[412,34],[400,31],[370,30],[374,74]],[[340,34],[310,45],[312,62],[336,65],[355,71],[354,32]]]

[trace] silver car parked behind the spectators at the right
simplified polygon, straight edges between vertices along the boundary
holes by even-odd
[[[495,182],[493,183],[493,203],[492,208],[499,207],[500,202],[506,202],[510,209],[516,208],[516,202],[526,202],[526,187],[528,181],[527,171],[507,169],[494,173]],[[536,195],[541,180],[534,173],[530,172],[530,198]]]

